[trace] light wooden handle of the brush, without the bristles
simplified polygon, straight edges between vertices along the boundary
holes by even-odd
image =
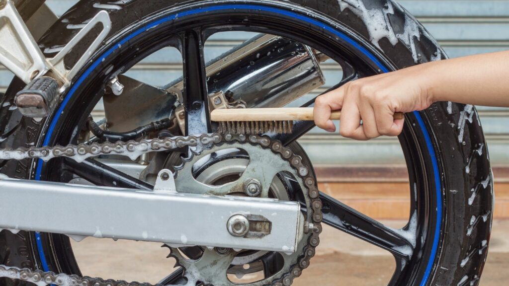
[[[313,107],[296,108],[236,108],[236,109],[214,109],[210,113],[210,119],[215,122],[224,121],[287,121],[287,120],[308,120],[313,121]],[[341,111],[332,111],[331,120],[338,120]],[[403,119],[403,113],[394,113],[394,119]]]

